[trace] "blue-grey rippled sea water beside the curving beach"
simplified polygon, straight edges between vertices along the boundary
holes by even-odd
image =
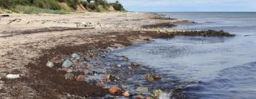
[[[155,39],[112,55],[155,69],[162,79],[151,87],[171,89],[173,98],[256,98],[256,13],[161,14],[199,22],[177,28],[236,36]]]

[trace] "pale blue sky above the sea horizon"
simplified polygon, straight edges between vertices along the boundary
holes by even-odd
[[[107,0],[114,2],[116,0]],[[256,0],[119,0],[128,11],[256,11]]]

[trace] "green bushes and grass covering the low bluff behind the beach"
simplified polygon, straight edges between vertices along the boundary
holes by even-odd
[[[16,13],[66,13],[60,3],[76,11],[78,4],[82,4],[88,11],[125,11],[119,1],[107,3],[106,0],[0,0],[0,8],[9,9]]]

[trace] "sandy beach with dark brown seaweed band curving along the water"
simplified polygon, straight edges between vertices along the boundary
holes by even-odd
[[[66,72],[59,70],[61,62],[55,64],[55,68],[46,67],[46,62],[53,57],[66,59],[74,52],[96,57],[100,52],[105,52],[107,47],[129,46],[148,42],[152,38],[193,34],[191,31],[166,33],[158,30],[165,26],[168,28],[169,25],[191,22],[157,19],[159,15],[149,13],[78,13],[67,16],[11,14],[10,17],[1,18],[3,21],[0,23],[0,28],[3,28],[0,40],[5,43],[1,48],[3,69],[0,76],[1,81],[4,81],[0,84],[2,98],[102,97],[109,93],[108,89],[75,80],[67,81],[64,78]],[[17,18],[21,18],[21,21],[14,21]],[[14,23],[6,25],[10,21]],[[78,23],[82,22],[91,23],[93,28],[78,28]],[[144,25],[146,28],[158,29],[141,28]],[[206,36],[207,33],[194,31],[193,35]],[[211,36],[218,33],[222,34],[210,31]],[[220,36],[229,35],[223,32]],[[21,78],[7,79],[6,74],[21,74]]]

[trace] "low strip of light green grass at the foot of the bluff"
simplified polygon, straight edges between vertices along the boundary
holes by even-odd
[[[66,14],[68,12],[66,11],[61,11],[61,10],[50,10],[46,8],[38,8],[35,6],[21,6],[18,5],[14,8],[11,8],[11,11],[16,12],[16,13],[54,13],[54,14]]]

